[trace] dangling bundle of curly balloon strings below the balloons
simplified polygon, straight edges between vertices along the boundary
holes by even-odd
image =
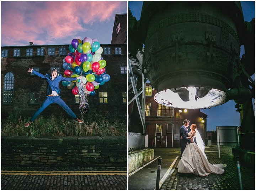
[[[87,93],[87,90],[85,88],[84,83],[82,80],[78,80],[78,93],[79,93],[79,109],[81,114],[85,114],[87,112],[87,109],[89,107],[88,99],[89,99],[89,94]]]

